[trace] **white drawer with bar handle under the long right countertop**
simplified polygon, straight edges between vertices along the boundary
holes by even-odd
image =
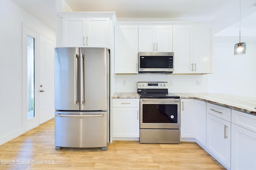
[[[231,109],[207,103],[207,113],[220,117],[226,121],[231,121]]]

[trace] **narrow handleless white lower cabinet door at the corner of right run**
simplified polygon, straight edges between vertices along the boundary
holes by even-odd
[[[206,102],[195,100],[195,138],[206,147]]]

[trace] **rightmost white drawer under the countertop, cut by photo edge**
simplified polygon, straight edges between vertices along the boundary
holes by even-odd
[[[256,133],[256,115],[250,115],[237,110],[231,110],[231,114],[232,123]]]

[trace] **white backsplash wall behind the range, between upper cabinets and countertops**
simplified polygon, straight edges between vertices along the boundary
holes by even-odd
[[[115,92],[137,92],[137,82],[168,82],[170,93],[206,93],[208,87],[207,74],[116,74],[115,76]]]

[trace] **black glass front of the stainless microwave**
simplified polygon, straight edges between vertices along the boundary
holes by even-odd
[[[173,68],[172,57],[169,57],[169,56],[140,57],[140,68]]]

